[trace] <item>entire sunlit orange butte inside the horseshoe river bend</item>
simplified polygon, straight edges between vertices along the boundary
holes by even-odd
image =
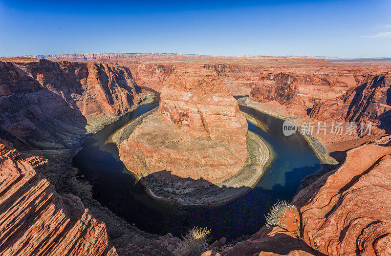
[[[179,69],[162,89],[159,111],[121,143],[119,154],[140,177],[216,184],[243,168],[247,131],[237,101],[215,72]]]

